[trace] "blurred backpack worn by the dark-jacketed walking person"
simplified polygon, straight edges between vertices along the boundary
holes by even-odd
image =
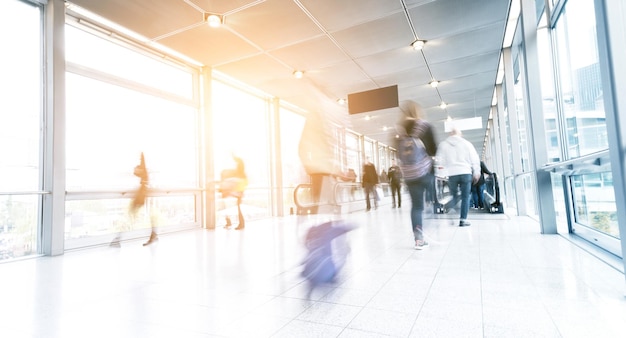
[[[404,179],[417,179],[430,173],[432,159],[421,139],[409,135],[402,136],[398,141],[397,151]]]

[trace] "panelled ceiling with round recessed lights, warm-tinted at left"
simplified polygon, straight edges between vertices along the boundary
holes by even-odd
[[[443,121],[482,117],[481,152],[510,0],[72,0],[72,3],[296,106],[345,116],[390,144],[408,102]],[[203,23],[205,13],[224,25]],[[424,49],[413,50],[416,39]],[[303,70],[303,79],[292,76]],[[437,89],[428,83],[440,82]],[[399,108],[348,116],[338,98],[398,86]],[[441,101],[448,104],[439,108]],[[365,116],[370,116],[366,120]]]

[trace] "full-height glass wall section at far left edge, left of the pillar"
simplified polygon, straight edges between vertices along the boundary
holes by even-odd
[[[41,27],[40,7],[0,2],[0,260],[39,251]]]

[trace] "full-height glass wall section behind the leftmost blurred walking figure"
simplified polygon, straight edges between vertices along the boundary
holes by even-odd
[[[151,227],[199,226],[193,71],[71,21],[65,31],[65,247],[98,244],[120,232],[143,236]],[[128,206],[139,187],[133,169],[141,154],[149,198],[132,214]]]

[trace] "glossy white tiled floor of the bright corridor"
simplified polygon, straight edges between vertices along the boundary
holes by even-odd
[[[531,219],[429,215],[416,251],[408,205],[342,217],[341,279],[311,299],[319,218],[0,264],[0,337],[626,337],[622,272]]]

